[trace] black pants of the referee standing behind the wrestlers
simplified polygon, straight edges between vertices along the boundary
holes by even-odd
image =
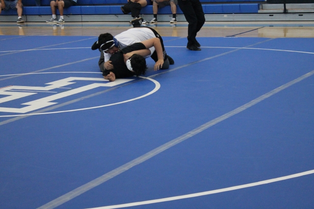
[[[187,46],[196,44],[196,34],[205,23],[205,15],[200,0],[178,0],[180,9],[188,23]]]

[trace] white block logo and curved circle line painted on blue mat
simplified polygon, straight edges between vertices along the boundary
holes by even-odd
[[[40,73],[34,73],[34,74],[40,74]],[[148,80],[152,80],[156,87],[154,91],[150,93],[146,93],[144,95],[141,95],[136,98],[132,98],[129,100],[125,100],[122,102],[117,102],[114,104],[120,104],[128,101],[132,101],[138,98],[142,98],[144,96],[147,96],[151,93],[156,92],[159,89],[159,83],[153,79],[147,78]],[[18,113],[18,114],[27,114],[32,111],[39,110],[41,108],[49,107],[54,104],[57,104],[55,100],[69,97],[72,95],[76,95],[79,93],[83,93],[95,88],[99,87],[115,87],[117,85],[125,84],[127,82],[130,82],[134,79],[116,79],[114,82],[108,82],[104,78],[91,78],[91,77],[67,77],[63,78],[60,80],[55,80],[49,83],[46,83],[45,85],[47,86],[6,86],[0,88],[0,112],[4,113]],[[75,84],[80,81],[91,81],[89,82],[88,85],[80,86],[78,88],[71,88],[72,84]],[[95,82],[93,82],[95,81]],[[72,85],[73,86],[73,85]],[[67,91],[63,91],[61,93],[53,92],[57,89],[69,89]],[[4,105],[1,105],[1,103],[17,100],[23,97],[27,97],[33,94],[37,93],[53,93],[52,95],[45,96],[39,99],[27,101],[25,103],[22,103],[23,107],[4,107]],[[3,97],[4,95],[4,97]],[[18,101],[18,100],[17,100]],[[109,105],[114,105],[114,104],[106,104],[102,106],[97,106],[97,107],[91,107],[91,108],[98,108],[98,107],[104,107],[104,106],[109,106]],[[7,105],[6,105],[7,106]],[[91,109],[91,108],[85,108],[85,109]],[[82,110],[82,109],[79,109]],[[76,111],[76,110],[69,110],[69,111]],[[59,111],[59,112],[68,112],[68,111]]]

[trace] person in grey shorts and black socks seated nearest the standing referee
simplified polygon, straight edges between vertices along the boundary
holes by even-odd
[[[150,22],[143,22],[143,24],[147,23],[156,23],[157,22],[157,13],[158,13],[158,8],[162,8],[165,6],[170,6],[171,7],[171,12],[172,12],[172,19],[170,23],[177,23],[177,4],[178,0],[152,0],[153,1],[153,14],[154,18]]]

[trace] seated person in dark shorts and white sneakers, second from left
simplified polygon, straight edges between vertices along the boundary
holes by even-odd
[[[63,9],[69,8],[70,6],[77,5],[77,0],[52,0],[50,1],[50,7],[52,11],[52,19],[46,21],[46,23],[64,23]],[[57,21],[56,8],[59,9],[60,19]]]

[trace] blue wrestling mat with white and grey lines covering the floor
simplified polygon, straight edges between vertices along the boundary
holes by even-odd
[[[0,36],[1,209],[314,207],[314,39],[164,37],[115,82],[96,40]]]

